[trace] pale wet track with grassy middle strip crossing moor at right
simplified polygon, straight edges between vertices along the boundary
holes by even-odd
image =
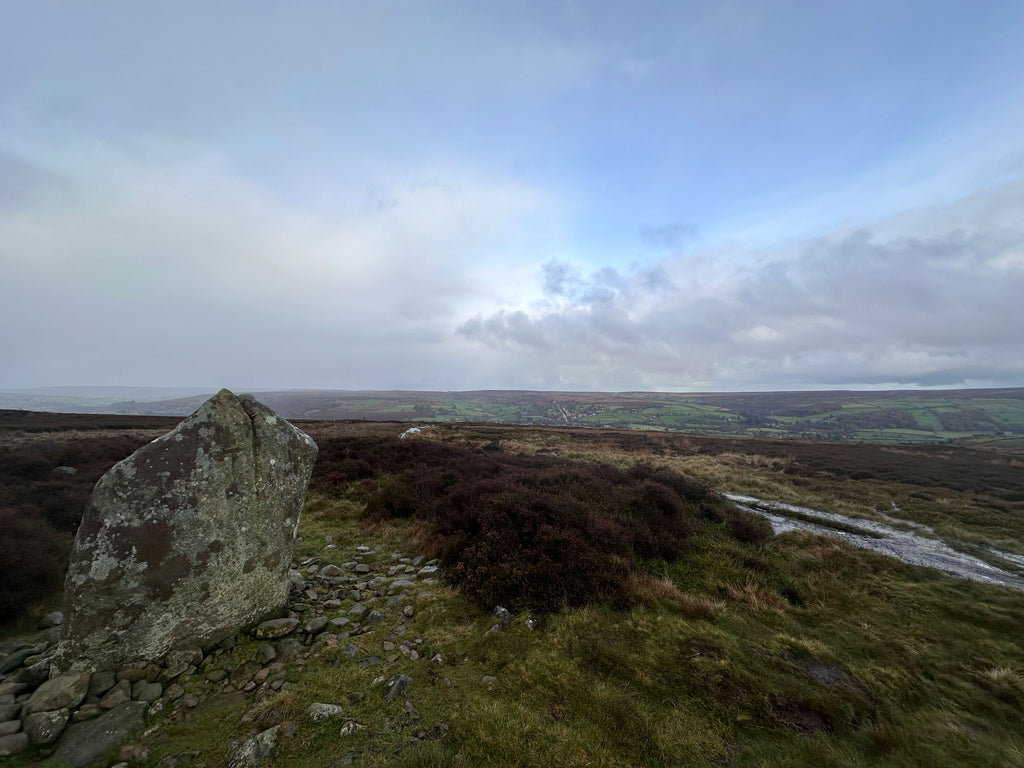
[[[739,494],[724,494],[724,496],[740,509],[767,517],[776,534],[786,530],[809,530],[821,536],[831,536],[854,547],[881,552],[911,565],[925,565],[961,579],[997,584],[1024,592],[1024,577],[1004,570],[973,555],[957,552],[939,539],[835,512]],[[818,524],[810,520],[821,522]],[[902,520],[898,522],[914,527],[913,523]],[[916,527],[921,529],[924,526]],[[1020,555],[994,549],[990,549],[989,552],[994,558],[1005,561],[1009,567],[1024,564],[1024,558]]]

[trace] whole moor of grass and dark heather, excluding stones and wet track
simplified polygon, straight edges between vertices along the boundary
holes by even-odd
[[[58,605],[91,484],[176,421],[0,413],[6,634]],[[326,650],[289,672],[261,717],[296,726],[268,765],[1024,766],[1024,593],[833,538],[773,536],[720,497],[903,521],[1024,556],[1019,439],[577,423],[435,423],[402,439],[411,421],[297,424],[321,446],[303,567],[361,545],[437,557],[446,579],[412,598],[420,658],[359,665],[380,652],[369,632],[354,657]],[[77,472],[54,472],[67,466]],[[496,632],[498,604],[513,617]],[[231,651],[240,664],[254,653]],[[350,697],[398,672],[417,680],[415,714]],[[365,727],[343,736],[304,717],[329,700]],[[222,764],[244,711],[168,717],[144,764],[185,753]]]

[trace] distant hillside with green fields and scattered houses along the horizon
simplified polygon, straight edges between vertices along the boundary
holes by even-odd
[[[0,408],[187,416],[213,392],[126,398],[92,388],[0,392]],[[144,390],[136,391],[145,397]],[[115,395],[111,397],[111,395]],[[288,419],[482,422],[873,442],[1024,437],[1024,388],[885,392],[467,392],[284,390],[256,393]]]

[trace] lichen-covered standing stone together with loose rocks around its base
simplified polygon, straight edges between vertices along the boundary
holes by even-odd
[[[0,757],[33,743],[56,765],[85,766],[169,701],[198,701],[176,681],[286,610],[315,458],[308,435],[224,389],[103,475],[63,612],[34,642],[0,647]],[[258,624],[257,636],[290,634],[292,622]]]

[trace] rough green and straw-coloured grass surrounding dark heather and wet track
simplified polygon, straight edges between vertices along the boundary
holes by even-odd
[[[302,427],[322,446],[352,434],[397,439],[404,429]],[[839,455],[809,467],[811,454],[787,455],[767,441],[729,441],[716,452],[654,437],[445,426],[409,439],[620,469],[646,461],[721,489],[865,517],[895,515],[896,502],[908,518],[1021,551],[1020,503],[980,485],[953,487],[954,459],[897,455],[942,462],[944,473],[923,466],[924,474],[903,479],[855,478]],[[990,458],[994,467],[1007,461]],[[371,467],[364,480],[377,483],[380,474]],[[1020,480],[1015,486],[1006,476],[998,493],[1013,494]],[[319,571],[354,560],[356,543],[380,553],[381,567],[391,567],[392,552],[429,548],[422,519],[365,514],[375,487],[310,494],[299,556],[319,560],[304,566],[305,579],[315,579],[310,565]],[[697,536],[679,559],[641,558],[636,566],[628,606],[598,601],[540,623],[528,622],[526,609],[498,621],[494,606],[443,583],[426,597],[410,593],[413,616],[385,594],[386,622],[316,652],[310,638],[304,667],[287,671],[256,712],[248,701],[215,698],[187,719],[151,723],[159,730],[142,739],[140,764],[222,765],[229,742],[280,724],[268,766],[1024,765],[1024,595],[800,532],[763,543]],[[420,640],[417,658],[399,651],[388,660],[395,650],[384,643],[400,647],[398,637],[388,639],[399,626],[402,639]],[[357,646],[351,656],[349,644]],[[218,664],[257,649],[255,641],[240,643]],[[358,664],[373,655],[382,660]],[[396,674],[414,683],[386,702],[379,691]],[[316,721],[314,702],[341,712]],[[346,728],[348,719],[365,727]]]

